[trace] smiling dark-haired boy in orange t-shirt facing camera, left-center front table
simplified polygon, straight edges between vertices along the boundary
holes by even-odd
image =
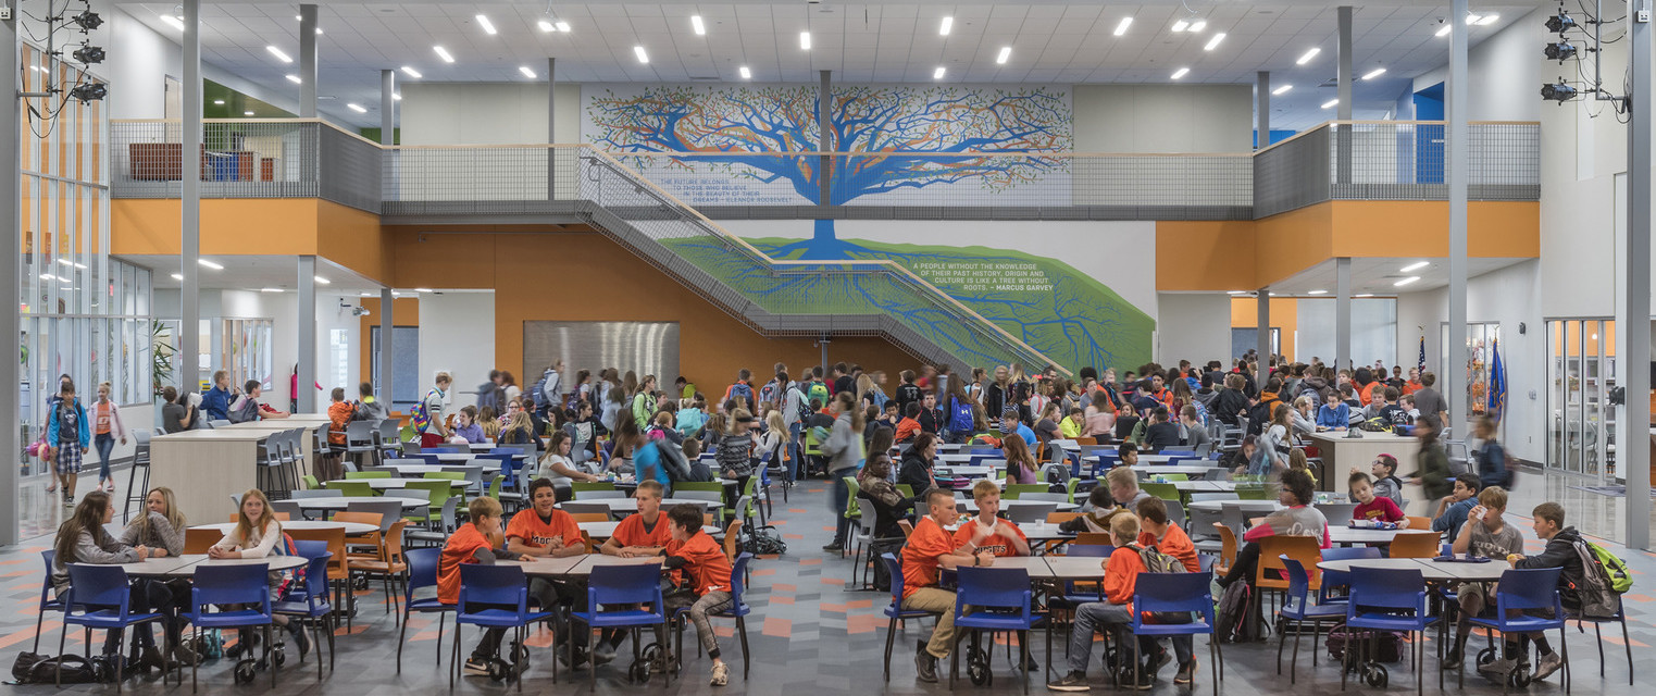
[[[563,558],[586,553],[586,542],[581,539],[581,527],[575,517],[558,509],[558,491],[551,479],[535,479],[528,484],[530,505],[512,515],[507,524],[507,550],[533,558]],[[573,611],[586,611],[586,588],[576,583],[553,583],[543,577],[528,580],[528,595],[545,608],[570,602]],[[558,641],[565,640],[570,630],[566,621],[553,621]],[[586,633],[575,631],[575,665],[586,661]]]

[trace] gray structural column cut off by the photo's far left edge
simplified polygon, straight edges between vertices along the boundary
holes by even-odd
[[[5,101],[5,108],[0,108],[0,133],[10,133],[12,138],[0,138],[0,239],[10,239],[13,242],[5,245],[3,254],[5,262],[0,263],[0,336],[20,336],[22,335],[22,317],[20,307],[23,303],[23,245],[17,242],[20,235],[18,224],[18,111],[22,104],[18,103],[18,75],[17,75],[17,15],[0,22],[0,75],[5,75],[12,81],[12,93],[7,94],[10,99]],[[17,360],[0,360],[0,384],[22,384],[23,383],[23,366]],[[17,396],[13,388],[12,396]],[[35,403],[43,404],[45,394],[36,394]],[[12,452],[17,457],[23,451],[23,442],[20,442],[18,429],[18,399],[0,399],[0,452]],[[17,459],[7,461],[0,466],[0,499],[17,502],[17,482],[18,467]],[[8,505],[8,512],[0,514],[0,545],[17,544],[18,525],[17,525],[17,507]]]

